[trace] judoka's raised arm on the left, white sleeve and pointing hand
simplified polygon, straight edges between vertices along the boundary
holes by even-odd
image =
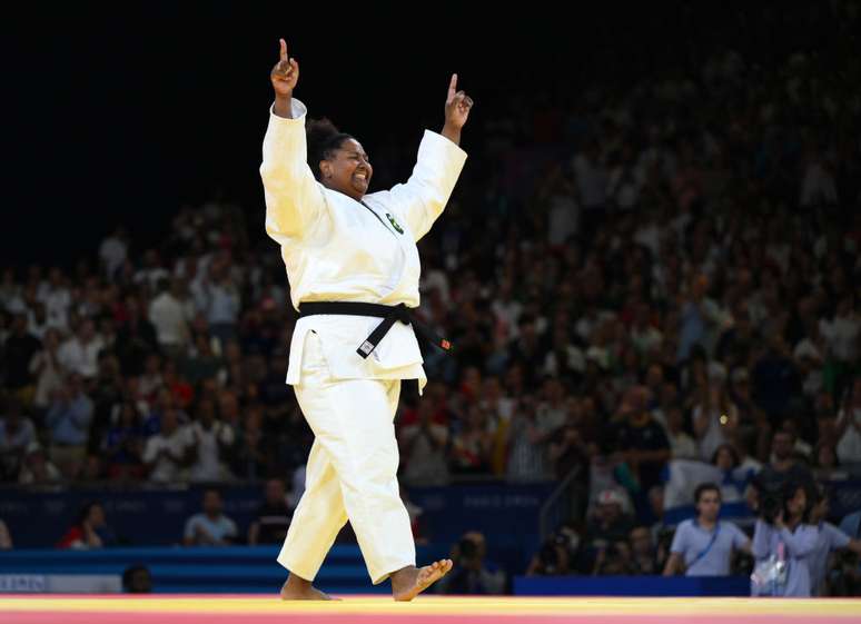
[[[266,232],[284,244],[286,238],[308,235],[325,214],[326,202],[307,164],[307,109],[293,98],[299,63],[287,56],[284,39],[280,46],[280,60],[269,75],[275,103],[264,138],[260,177],[266,196]]]

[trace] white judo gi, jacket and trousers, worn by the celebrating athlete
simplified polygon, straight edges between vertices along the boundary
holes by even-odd
[[[260,167],[266,231],[281,246],[293,306],[365,301],[417,307],[416,241],[445,208],[466,152],[425,131],[409,180],[366,195],[365,207],[314,178],[306,162],[306,112],[296,99],[294,119],[270,111]],[[396,477],[393,420],[400,379],[418,379],[420,393],[427,377],[409,325],[395,323],[369,357],[356,353],[379,323],[366,316],[306,316],[293,334],[287,383],[295,386],[315,440],[305,494],[278,562],[308,581],[348,518],[374,584],[415,565]]]

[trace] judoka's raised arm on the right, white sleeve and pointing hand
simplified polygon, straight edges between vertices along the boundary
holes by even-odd
[[[406,220],[415,240],[427,234],[443,212],[466,161],[466,152],[458,145],[473,100],[456,89],[455,73],[448,83],[443,130],[438,135],[425,131],[409,180],[372,196]]]

